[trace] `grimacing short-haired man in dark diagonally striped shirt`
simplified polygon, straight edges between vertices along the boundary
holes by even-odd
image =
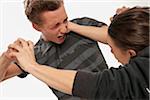
[[[67,33],[68,17],[63,1],[26,0],[25,13],[32,22],[33,27],[42,33],[40,40],[35,45],[35,56],[38,63],[57,66],[59,69],[84,69],[93,72],[107,68],[96,41],[73,32]],[[106,25],[90,18],[78,18],[72,20],[72,22],[97,27]],[[8,70],[7,73],[9,74],[6,77],[18,75],[23,78],[28,74],[22,69],[17,69],[16,65],[9,68],[13,69],[13,73]],[[83,99],[54,89],[53,92],[60,100]]]

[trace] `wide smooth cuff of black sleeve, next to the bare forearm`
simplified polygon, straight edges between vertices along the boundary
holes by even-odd
[[[78,71],[73,85],[73,95],[84,98],[94,98],[99,76],[101,76],[101,72],[94,74],[87,71]]]

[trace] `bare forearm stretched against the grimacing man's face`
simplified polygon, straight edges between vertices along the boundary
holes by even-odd
[[[68,22],[68,29],[95,41],[107,44],[108,26],[94,27]]]

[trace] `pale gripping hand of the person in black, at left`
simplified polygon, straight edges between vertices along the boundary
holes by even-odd
[[[20,67],[28,72],[29,67],[36,64],[34,45],[31,41],[23,39],[18,39],[18,41],[20,44],[14,43],[9,45],[9,48],[14,50],[9,53],[9,56],[15,57]]]

